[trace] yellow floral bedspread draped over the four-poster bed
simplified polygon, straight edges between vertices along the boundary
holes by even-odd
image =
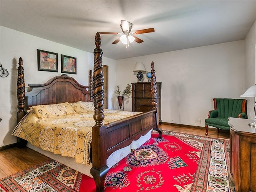
[[[114,122],[140,112],[104,109],[104,124]],[[73,157],[77,163],[91,164],[93,111],[39,119],[31,110],[16,126],[12,135],[27,140],[43,150]]]

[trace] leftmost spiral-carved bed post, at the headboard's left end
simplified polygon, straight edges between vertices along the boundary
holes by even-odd
[[[24,68],[23,68],[23,60],[19,58],[19,66],[18,66],[18,79],[17,79],[17,99],[18,99],[18,112],[17,112],[17,124],[22,120],[22,118],[26,115],[25,109],[25,81],[24,81]],[[17,138],[18,148],[25,147],[27,142],[21,138]]]

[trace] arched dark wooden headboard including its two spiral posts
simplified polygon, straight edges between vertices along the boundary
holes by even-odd
[[[92,102],[92,70],[89,74],[89,86],[79,84],[74,78],[56,76],[44,84],[29,84],[25,92],[22,58],[19,59],[17,97],[18,108],[24,110],[35,105],[56,104],[64,102],[90,101]],[[25,97],[24,97],[25,94]],[[25,99],[24,99],[25,98]],[[25,104],[26,102],[26,104]]]

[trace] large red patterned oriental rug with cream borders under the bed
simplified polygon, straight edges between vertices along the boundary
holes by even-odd
[[[105,191],[230,192],[226,139],[163,131],[110,168]],[[94,180],[49,160],[0,180],[0,192],[92,192]]]

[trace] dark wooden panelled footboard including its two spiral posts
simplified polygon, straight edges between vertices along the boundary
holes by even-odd
[[[128,146],[133,140],[138,140],[149,130],[154,129],[162,137],[162,131],[159,129],[157,114],[157,90],[154,63],[152,62],[151,73],[151,93],[152,93],[152,111],[138,114],[125,120],[119,120],[106,126],[103,125],[103,100],[104,100],[104,77],[102,66],[102,49],[100,33],[95,36],[94,49],[94,72],[93,72],[93,101],[94,101],[94,120],[92,127],[92,168],[90,173],[96,183],[96,191],[104,191],[104,181],[108,173],[106,160],[112,152]]]

